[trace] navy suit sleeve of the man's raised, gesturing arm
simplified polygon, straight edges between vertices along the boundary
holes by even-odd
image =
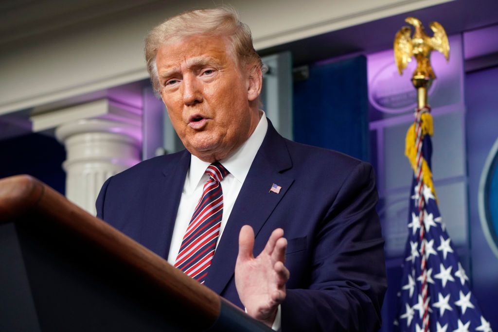
[[[308,289],[288,289],[282,331],[377,331],[387,287],[372,166],[342,184],[312,241]]]

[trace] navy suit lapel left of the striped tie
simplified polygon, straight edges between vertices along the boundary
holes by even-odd
[[[166,164],[148,185],[140,236],[143,245],[164,259],[168,258],[176,213],[190,166],[190,153],[185,150],[176,162]]]

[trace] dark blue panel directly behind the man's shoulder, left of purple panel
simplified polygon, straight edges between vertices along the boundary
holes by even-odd
[[[368,161],[367,59],[355,57],[309,68],[294,83],[296,142],[344,152]]]

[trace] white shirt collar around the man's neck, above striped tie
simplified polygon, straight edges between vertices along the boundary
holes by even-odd
[[[246,180],[252,161],[254,160],[254,157],[263,142],[264,136],[266,135],[266,130],[268,129],[266,115],[264,111],[261,112],[262,115],[256,129],[254,129],[254,132],[249,136],[248,140],[230,156],[220,160],[220,163],[225,166],[230,174],[232,174],[240,183],[244,183],[244,180]],[[197,187],[206,168],[210,164],[211,163],[209,162],[202,161],[193,154],[190,155],[190,169],[185,183],[185,189],[188,192],[193,191]]]

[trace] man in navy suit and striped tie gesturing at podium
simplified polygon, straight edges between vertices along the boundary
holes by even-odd
[[[234,10],[172,17],[145,53],[186,150],[107,180],[98,216],[274,329],[377,330],[386,281],[372,167],[278,135]]]

